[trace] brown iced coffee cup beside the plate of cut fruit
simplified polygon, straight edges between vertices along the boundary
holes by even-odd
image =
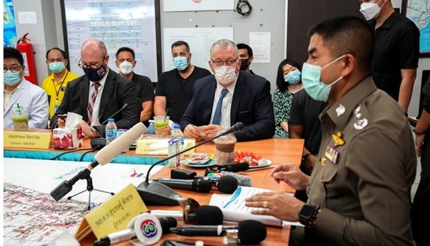
[[[223,131],[218,132],[221,134]],[[236,137],[230,133],[223,137],[218,137],[214,140],[215,143],[215,158],[216,165],[229,165],[234,164],[234,145]]]

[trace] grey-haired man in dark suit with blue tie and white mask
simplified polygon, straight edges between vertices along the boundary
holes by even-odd
[[[197,140],[214,137],[219,130],[236,122],[245,125],[243,130],[235,132],[237,141],[273,137],[275,117],[270,82],[239,71],[241,59],[236,45],[228,39],[216,41],[210,55],[209,67],[214,76],[201,78],[194,84],[193,98],[180,121],[184,137]]]

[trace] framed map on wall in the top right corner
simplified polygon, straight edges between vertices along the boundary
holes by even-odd
[[[406,17],[420,29],[420,56],[430,56],[430,6],[427,0],[404,0]]]

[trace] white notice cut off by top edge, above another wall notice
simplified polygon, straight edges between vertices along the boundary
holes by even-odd
[[[234,0],[164,0],[164,12],[234,10]]]

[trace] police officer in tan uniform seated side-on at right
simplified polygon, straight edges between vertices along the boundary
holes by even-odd
[[[289,245],[412,245],[414,142],[402,109],[372,80],[372,30],[358,17],[336,17],[309,34],[304,89],[329,103],[320,114],[318,160],[311,177],[297,164],[270,174],[296,190],[307,188],[309,200],[269,192],[248,198],[246,206],[302,223]]]

